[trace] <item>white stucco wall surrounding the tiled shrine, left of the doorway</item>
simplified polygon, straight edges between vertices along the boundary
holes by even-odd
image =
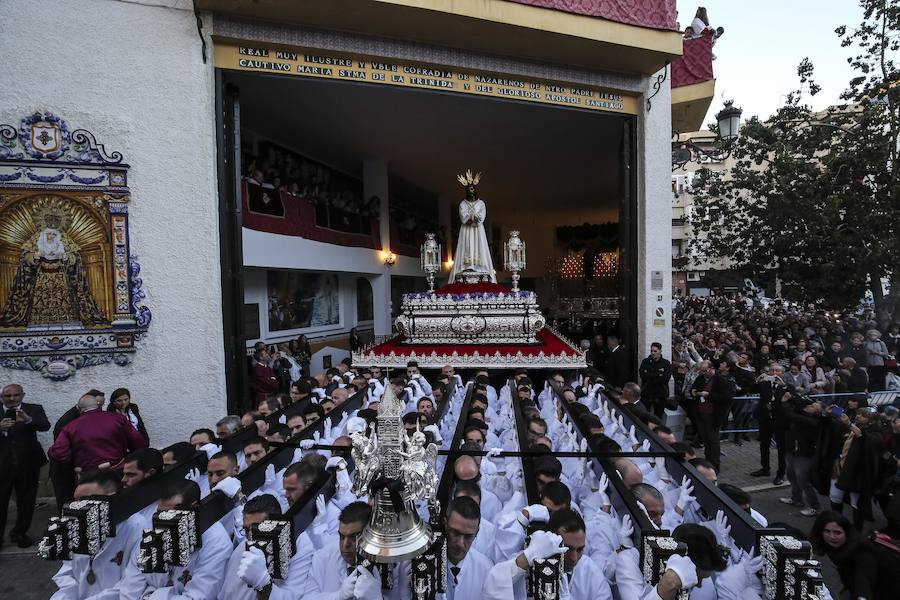
[[[0,122],[51,111],[122,152],[131,248],[153,312],[131,365],[62,382],[2,369],[0,383],[23,384],[51,421],[90,388],[128,387],[162,446],[225,414],[225,382],[211,47],[203,64],[189,0],[155,4],[0,2]]]

